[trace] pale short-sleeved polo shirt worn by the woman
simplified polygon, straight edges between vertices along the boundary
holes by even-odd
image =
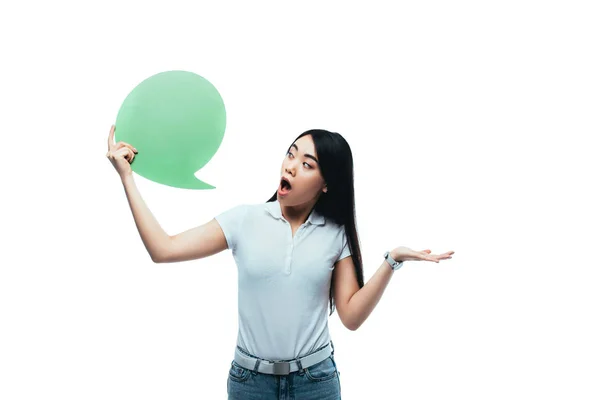
[[[215,219],[238,268],[238,346],[288,360],[329,343],[334,263],[350,255],[344,227],[313,210],[292,238],[277,200],[239,205]]]

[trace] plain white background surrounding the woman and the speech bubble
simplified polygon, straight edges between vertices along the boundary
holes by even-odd
[[[324,128],[352,147],[365,281],[392,247],[455,251],[405,263],[356,332],[330,317],[344,400],[600,398],[593,3],[3,5],[0,398],[226,398],[231,253],[152,263],[105,158],[173,69],[227,130],[215,190],[135,176],[168,233],[266,201]]]

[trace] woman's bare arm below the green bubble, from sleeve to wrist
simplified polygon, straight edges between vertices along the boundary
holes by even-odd
[[[227,240],[215,219],[177,235],[168,235],[144,202],[133,176],[125,174],[122,182],[135,225],[155,263],[194,260],[227,249]]]

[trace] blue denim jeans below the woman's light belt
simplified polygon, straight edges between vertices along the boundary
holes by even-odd
[[[339,372],[333,353],[315,365],[288,375],[263,374],[244,368],[234,360],[229,369],[227,395],[229,400],[341,400],[342,398]]]

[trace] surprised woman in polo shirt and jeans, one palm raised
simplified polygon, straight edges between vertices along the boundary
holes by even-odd
[[[157,263],[200,259],[231,249],[238,266],[239,331],[229,370],[229,399],[340,399],[327,327],[334,309],[356,330],[403,261],[452,258],[397,247],[365,285],[354,215],[352,152],[338,133],[313,129],[287,149],[273,196],[243,204],[202,226],[169,236],[137,190],[137,150],[114,144],[116,168],[140,236]],[[329,303],[329,313],[328,313]]]

